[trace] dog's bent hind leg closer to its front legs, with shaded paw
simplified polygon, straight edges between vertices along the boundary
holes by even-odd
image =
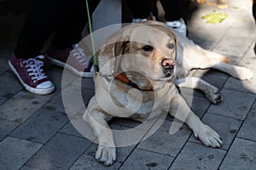
[[[195,88],[201,90],[204,94],[206,94],[207,99],[209,99],[213,104],[218,104],[222,97],[219,94],[218,88],[212,86],[208,82],[202,80],[198,77],[185,77],[181,79],[177,79],[175,85],[179,88]]]

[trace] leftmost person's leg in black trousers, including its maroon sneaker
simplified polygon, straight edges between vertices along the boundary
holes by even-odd
[[[50,94],[55,86],[44,72],[44,55],[40,54],[44,42],[60,24],[58,18],[66,11],[64,6],[71,0],[32,1],[26,23],[20,32],[15,54],[9,59],[9,66],[27,91],[34,94]]]

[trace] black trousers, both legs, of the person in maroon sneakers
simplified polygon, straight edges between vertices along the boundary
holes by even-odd
[[[88,1],[90,14],[99,2]],[[53,33],[54,48],[71,48],[81,40],[87,21],[85,0],[32,0],[15,55],[25,59],[37,56]]]

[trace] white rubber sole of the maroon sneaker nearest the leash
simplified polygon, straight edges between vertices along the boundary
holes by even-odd
[[[49,59],[55,65],[59,65],[59,66],[61,66],[63,68],[66,67],[68,71],[73,72],[78,77],[83,77],[83,78],[91,78],[91,77],[93,77],[93,72],[78,71],[73,66],[68,65],[67,63],[63,63],[63,62],[61,62],[58,59],[53,59],[53,58],[49,57],[49,55],[47,55],[47,54],[45,54],[45,56],[46,56],[47,59]]]

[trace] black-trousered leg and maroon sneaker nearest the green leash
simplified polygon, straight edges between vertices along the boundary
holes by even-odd
[[[46,57],[55,65],[62,67],[66,65],[68,70],[79,77],[93,77],[90,57],[84,54],[84,49],[78,44],[88,21],[86,3],[85,0],[70,1],[73,3],[64,9],[67,13],[59,19],[61,23],[56,28],[55,37],[46,51]],[[99,2],[99,0],[88,1],[90,15]]]

